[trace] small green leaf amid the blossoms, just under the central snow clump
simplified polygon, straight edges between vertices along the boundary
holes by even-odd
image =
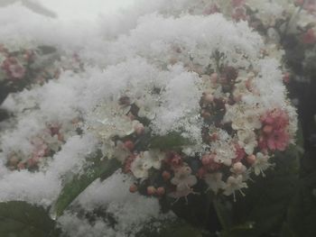
[[[171,132],[164,136],[153,137],[149,141],[149,147],[153,149],[169,150],[189,145],[190,141],[183,138],[179,132]]]

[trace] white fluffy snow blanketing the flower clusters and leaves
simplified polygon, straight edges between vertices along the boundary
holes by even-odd
[[[45,5],[44,2],[53,6],[48,0],[42,2]],[[60,3],[56,2],[56,7]],[[126,9],[100,15],[98,19],[86,14],[86,21],[47,18],[19,3],[0,8],[0,23],[5,26],[0,28],[1,41],[11,49],[16,45],[22,48],[52,45],[65,56],[76,52],[87,62],[82,72],[64,70],[59,79],[25,89],[5,100],[2,106],[14,113],[16,123],[0,135],[0,201],[51,205],[65,178],[78,173],[85,158],[100,145],[95,131],[89,130],[96,122],[95,108],[120,96],[140,101],[147,96],[146,100],[153,101],[153,132],[182,131],[201,142],[200,117],[191,116],[198,114],[202,93],[197,70],[201,65],[202,69],[209,65],[215,68],[217,52],[225,55],[224,64],[258,68],[259,77],[265,80],[258,77],[256,87],[261,88],[265,106],[275,103],[285,106],[278,62],[259,59],[264,47],[259,34],[252,32],[245,22],[232,23],[221,14],[202,16],[181,12],[187,5],[191,5],[188,0],[142,0],[128,9],[129,14]],[[154,87],[161,89],[159,95],[153,93]],[[245,97],[246,100],[254,103],[256,98]],[[112,116],[113,110],[108,111],[103,119]],[[32,152],[30,139],[48,123],[70,123],[74,118],[86,122],[81,126],[84,134],[70,136],[45,169],[31,173],[5,168],[6,156],[11,152]],[[117,221],[115,227],[100,219],[90,224],[71,212],[60,218],[60,225],[70,236],[118,237],[125,236],[132,228],[135,233],[140,223],[172,217],[161,214],[156,199],[129,193],[132,182],[117,172],[104,182],[96,180],[77,199],[77,204],[86,211],[107,207]]]

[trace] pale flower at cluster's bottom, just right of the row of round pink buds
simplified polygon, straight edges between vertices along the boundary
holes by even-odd
[[[177,191],[188,189],[197,183],[198,179],[191,175],[191,168],[181,167],[174,172],[174,177],[171,182],[172,185],[177,186]]]

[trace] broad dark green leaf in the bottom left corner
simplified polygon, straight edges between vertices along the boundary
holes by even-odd
[[[57,237],[55,222],[42,208],[25,202],[0,203],[1,237]]]

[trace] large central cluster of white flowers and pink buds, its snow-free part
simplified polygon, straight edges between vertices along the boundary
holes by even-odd
[[[197,78],[200,140],[190,141],[181,132],[155,134],[153,122],[159,114],[154,110],[162,105],[163,88],[140,94],[144,103],[126,96],[129,90],[116,102],[96,108],[93,117],[99,119],[88,129],[105,142],[105,156],[121,160],[124,172],[135,177],[131,192],[178,199],[211,190],[236,198],[237,191],[244,195],[252,173],[265,176],[265,170],[274,166],[270,158],[275,150],[285,150],[293,142],[295,111],[287,100],[274,102],[269,87],[262,84],[268,72],[222,65],[205,73]],[[154,103],[146,103],[153,95]]]

